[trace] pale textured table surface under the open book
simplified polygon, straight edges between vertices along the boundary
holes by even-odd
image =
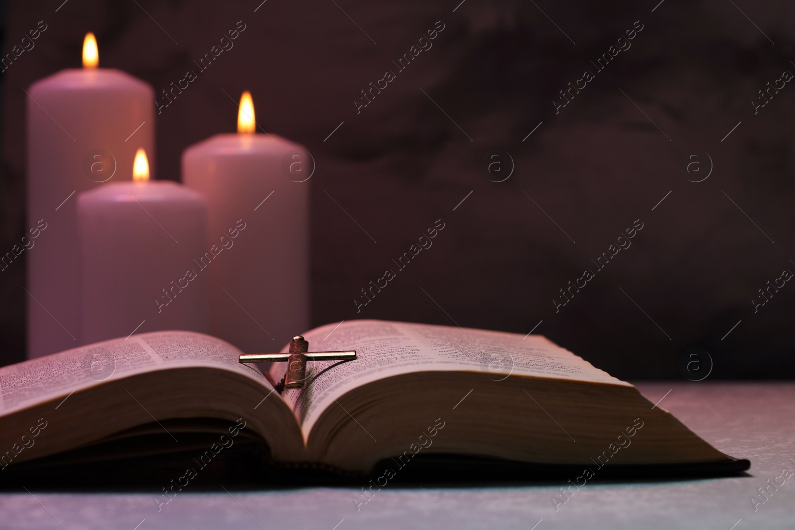
[[[756,506],[750,497],[795,472],[795,383],[641,383],[653,402],[747,476],[588,484],[556,511],[560,484],[380,490],[357,511],[352,488],[182,492],[158,512],[155,493],[3,493],[0,528],[795,528],[795,476]],[[670,393],[668,393],[670,391]],[[668,393],[667,395],[665,395]],[[781,479],[778,479],[781,483]]]

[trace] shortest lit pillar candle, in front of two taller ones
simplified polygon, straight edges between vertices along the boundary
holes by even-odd
[[[207,274],[193,261],[207,244],[198,191],[149,180],[138,149],[132,182],[77,199],[83,341],[157,330],[208,331]]]

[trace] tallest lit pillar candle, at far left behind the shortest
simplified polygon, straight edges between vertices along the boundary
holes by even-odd
[[[85,343],[77,195],[108,180],[130,180],[136,149],[154,152],[153,88],[98,64],[89,34],[84,68],[58,72],[27,91],[27,224],[47,226],[27,257],[29,358]]]

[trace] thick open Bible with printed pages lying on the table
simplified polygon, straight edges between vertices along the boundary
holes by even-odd
[[[383,462],[393,472],[420,461],[456,462],[453,470],[467,458],[477,469],[502,462],[593,473],[656,466],[719,474],[750,465],[541,335],[354,320],[304,337],[311,350],[356,350],[358,358],[308,362],[307,385],[281,394],[274,383],[285,363],[259,371],[238,362],[242,352],[227,342],[188,331],[3,367],[0,478],[178,452],[198,473],[243,443],[277,466],[348,475]]]

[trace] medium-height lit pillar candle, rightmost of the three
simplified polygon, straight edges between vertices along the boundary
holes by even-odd
[[[245,352],[275,351],[309,327],[311,157],[254,127],[246,92],[237,134],[182,155],[183,183],[207,196],[210,243],[223,246],[239,230],[233,248],[207,260],[207,273],[211,334]]]

